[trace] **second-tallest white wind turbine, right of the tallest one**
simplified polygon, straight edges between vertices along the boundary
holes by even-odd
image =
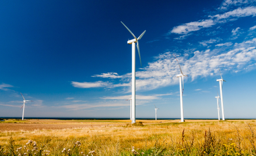
[[[174,55],[174,54],[173,54]],[[174,55],[176,58],[176,56]],[[178,62],[178,59],[176,58],[176,61]],[[178,63],[178,66],[180,67],[180,63]],[[181,122],[184,122],[184,114],[183,114],[183,91],[184,91],[184,75],[181,68],[180,68],[180,75],[176,75],[176,77],[180,77],[180,114],[181,114]],[[181,77],[182,77],[182,83],[181,83]]]

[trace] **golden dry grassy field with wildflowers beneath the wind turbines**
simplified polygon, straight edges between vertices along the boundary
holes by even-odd
[[[255,120],[5,120],[0,155],[255,155]]]

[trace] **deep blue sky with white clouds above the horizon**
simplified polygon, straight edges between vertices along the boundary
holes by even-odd
[[[256,1],[1,1],[0,116],[129,118],[131,34],[136,117],[256,118]]]

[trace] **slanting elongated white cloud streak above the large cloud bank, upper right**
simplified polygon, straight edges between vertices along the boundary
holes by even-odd
[[[203,28],[212,27],[218,23],[226,23],[230,20],[236,20],[239,17],[246,16],[255,16],[256,15],[256,7],[248,6],[246,8],[237,8],[232,11],[218,14],[214,16],[209,16],[209,19],[198,20],[198,22],[190,22],[181,24],[180,26],[173,27],[170,33],[175,34],[188,34],[191,31],[198,31]]]

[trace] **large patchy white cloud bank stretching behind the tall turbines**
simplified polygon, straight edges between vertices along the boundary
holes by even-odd
[[[177,56],[183,73],[188,75],[185,77],[185,83],[187,80],[193,81],[197,77],[206,77],[219,75],[218,68],[232,71],[251,70],[255,68],[254,63],[256,61],[256,38],[253,40],[247,40],[241,43],[236,43],[232,47],[232,42],[216,45],[215,49],[206,49],[202,51],[194,51],[190,55]],[[226,45],[226,47],[224,46]],[[222,48],[219,48],[221,47]],[[251,62],[250,68],[247,66]],[[244,69],[244,68],[247,69]],[[223,71],[225,71],[223,70]],[[148,63],[148,66],[142,68],[136,72],[136,90],[153,90],[156,88],[167,87],[174,84],[178,84],[179,81],[176,77],[180,73],[180,69],[173,56],[173,52],[165,52],[155,57],[154,62]],[[95,83],[81,83],[79,87],[120,87],[131,86],[131,73],[122,75],[121,77],[127,77],[126,79],[118,79],[120,84],[104,83],[102,81],[96,81]],[[129,75],[129,77],[127,76]],[[225,72],[223,72],[225,75]],[[123,82],[123,83],[122,83]],[[99,84],[98,84],[99,83]],[[76,86],[74,86],[76,87]],[[128,88],[127,88],[128,89]],[[129,88],[130,90],[130,88]],[[106,97],[107,98],[107,97]],[[128,97],[108,97],[108,98],[130,98]],[[157,96],[148,97],[157,98]]]

